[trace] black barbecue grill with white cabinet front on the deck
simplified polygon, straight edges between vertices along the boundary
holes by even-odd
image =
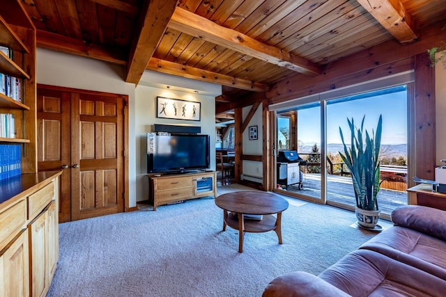
[[[307,161],[300,158],[295,150],[280,150],[277,154],[277,184],[284,184],[287,190],[288,186],[298,184],[302,190],[303,172],[300,166],[306,165]]]

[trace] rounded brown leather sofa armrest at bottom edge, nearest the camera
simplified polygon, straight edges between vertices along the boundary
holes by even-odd
[[[304,271],[294,271],[272,280],[263,297],[344,297],[350,296],[321,278]]]

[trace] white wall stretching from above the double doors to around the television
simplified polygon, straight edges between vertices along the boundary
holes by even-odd
[[[146,132],[150,131],[151,125],[157,123],[197,126],[190,121],[155,118],[156,96],[201,102],[201,122],[194,123],[201,125],[202,134],[210,135],[211,148],[215,145],[214,97],[221,94],[221,86],[146,71],[135,89],[134,83],[123,81],[123,66],[40,48],[37,49],[36,60],[37,83],[128,95],[129,207],[135,207],[137,201],[148,198],[148,182],[144,175],[146,143],[142,140],[146,137]],[[163,83],[171,86],[170,93],[167,93]],[[194,90],[198,90],[199,94],[195,94]],[[215,168],[215,152],[211,152],[211,166]]]

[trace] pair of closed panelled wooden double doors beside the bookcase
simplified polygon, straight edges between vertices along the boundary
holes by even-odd
[[[38,171],[61,170],[59,222],[124,210],[125,97],[38,86]]]

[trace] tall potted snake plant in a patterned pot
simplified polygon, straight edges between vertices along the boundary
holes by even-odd
[[[380,115],[375,131],[370,135],[366,130],[364,134],[364,118],[360,128],[355,127],[353,118],[348,120],[350,127],[351,145],[347,147],[344,142],[342,129],[339,127],[341,141],[344,145],[344,154],[339,152],[342,161],[351,172],[353,188],[356,199],[357,223],[366,228],[374,228],[378,223],[379,209],[377,195],[380,189],[380,161],[378,159],[383,131],[383,117]],[[365,139],[364,139],[365,138]]]

